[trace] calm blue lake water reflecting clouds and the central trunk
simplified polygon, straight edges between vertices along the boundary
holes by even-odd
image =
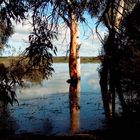
[[[24,88],[17,89],[19,105],[8,108],[5,128],[15,134],[45,135],[103,128],[105,115],[99,66],[81,64],[81,81],[76,97],[71,96],[70,85],[66,82],[69,79],[68,64],[54,64],[55,73],[49,80],[26,81]],[[77,109],[73,109],[73,102],[76,102]]]

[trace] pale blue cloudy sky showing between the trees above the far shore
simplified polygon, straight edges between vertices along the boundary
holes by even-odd
[[[88,25],[80,24],[79,43],[81,44],[81,56],[98,56],[101,50],[101,43],[95,33],[95,19],[87,18]],[[9,38],[8,46],[5,47],[3,56],[17,56],[28,47],[28,35],[32,28],[28,22],[14,23],[15,33]],[[58,40],[53,40],[53,44],[57,47],[57,56],[66,56],[70,42],[70,32],[66,25],[59,25]],[[103,37],[105,28],[101,25],[98,28],[99,33]]]

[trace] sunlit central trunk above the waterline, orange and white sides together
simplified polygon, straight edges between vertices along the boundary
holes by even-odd
[[[69,23],[70,28],[70,53],[69,53],[69,74],[70,80],[80,80],[80,43],[79,43],[79,22],[77,22],[74,9],[70,8],[71,0],[66,0],[69,5]],[[67,21],[66,21],[67,22]]]

